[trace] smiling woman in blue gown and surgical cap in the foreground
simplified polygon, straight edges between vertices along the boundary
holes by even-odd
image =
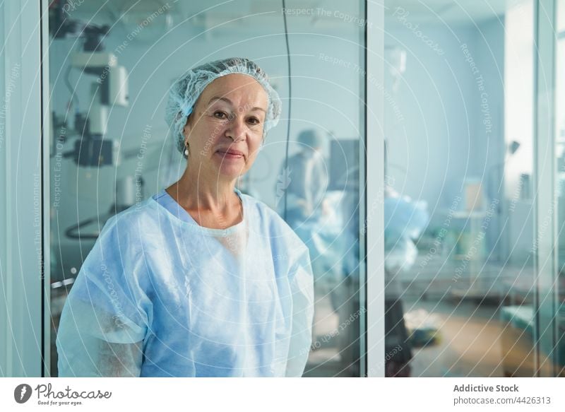
[[[61,314],[60,376],[302,375],[308,249],[235,188],[279,115],[247,59],[198,66],[174,84],[167,122],[186,170],[105,225]]]

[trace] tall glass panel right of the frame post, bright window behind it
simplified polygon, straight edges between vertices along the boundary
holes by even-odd
[[[533,376],[533,1],[448,3],[386,2],[386,376]]]

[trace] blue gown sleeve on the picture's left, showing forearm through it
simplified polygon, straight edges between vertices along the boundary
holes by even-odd
[[[112,218],[85,259],[59,322],[60,377],[140,375],[151,304],[136,233]]]

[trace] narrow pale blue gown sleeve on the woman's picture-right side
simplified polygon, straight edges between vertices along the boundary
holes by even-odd
[[[292,332],[285,376],[301,377],[312,344],[314,321],[314,276],[308,249],[305,249],[289,274],[292,293]]]

